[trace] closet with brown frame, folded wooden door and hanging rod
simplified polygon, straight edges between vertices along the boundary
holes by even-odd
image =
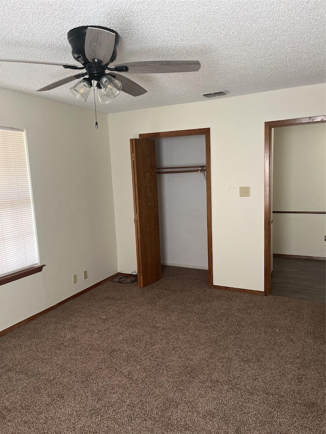
[[[210,130],[130,139],[138,284],[161,265],[208,270],[212,286]]]

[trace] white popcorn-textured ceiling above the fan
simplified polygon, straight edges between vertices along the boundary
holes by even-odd
[[[0,58],[76,64],[67,32],[80,25],[120,35],[115,63],[199,60],[199,72],[129,74],[148,93],[121,93],[99,111],[116,112],[325,81],[324,0],[0,1]],[[0,87],[93,109],[69,88],[35,90],[73,75],[60,66],[0,63]],[[223,97],[223,98],[228,98]]]

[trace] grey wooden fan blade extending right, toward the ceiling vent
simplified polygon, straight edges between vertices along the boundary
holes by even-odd
[[[127,66],[131,74],[155,74],[165,72],[195,72],[200,69],[198,61],[153,61],[153,62],[129,62],[115,65],[115,67]]]

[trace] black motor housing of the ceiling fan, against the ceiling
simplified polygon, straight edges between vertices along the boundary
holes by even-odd
[[[119,44],[119,34],[114,30],[112,30],[111,28],[101,27],[100,25],[83,25],[81,27],[75,27],[69,30],[67,36],[68,36],[68,42],[72,48],[71,52],[73,58],[77,62],[81,63],[83,66],[89,63],[89,59],[87,59],[85,55],[85,38],[86,38],[86,32],[88,27],[102,28],[103,30],[107,30],[116,35],[113,53],[110,62],[108,62],[108,64],[114,62],[117,58],[117,46]]]

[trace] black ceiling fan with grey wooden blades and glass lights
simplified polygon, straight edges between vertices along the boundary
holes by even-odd
[[[34,63],[41,65],[57,65],[66,69],[83,70],[70,77],[55,81],[54,83],[38,89],[37,92],[49,91],[58,88],[70,81],[78,81],[71,89],[73,95],[86,101],[92,83],[97,88],[98,99],[101,104],[108,103],[120,91],[134,97],[145,94],[147,91],[136,82],[130,80],[122,73],[167,73],[167,72],[195,72],[200,69],[198,61],[147,61],[129,62],[109,67],[117,57],[119,35],[111,28],[101,26],[75,27],[68,32],[68,42],[72,48],[73,58],[82,66],[62,63],[37,62],[28,60],[0,59],[0,62]],[[96,83],[96,84],[95,84]]]

